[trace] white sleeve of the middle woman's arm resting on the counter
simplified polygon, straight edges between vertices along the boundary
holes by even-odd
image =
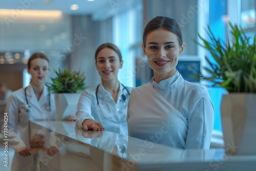
[[[85,119],[94,119],[92,116],[92,108],[93,108],[92,96],[88,91],[84,91],[78,101],[77,104],[77,112],[76,112],[76,127],[82,128],[82,122]],[[95,119],[94,119],[95,120]]]

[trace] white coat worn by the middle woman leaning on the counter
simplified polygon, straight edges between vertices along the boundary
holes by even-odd
[[[129,93],[133,88],[126,87],[128,93],[120,83],[119,86],[117,103],[115,103],[111,94],[104,89],[102,83],[100,83],[97,93],[99,104],[97,104],[95,94],[96,88],[91,91],[84,91],[77,105],[76,127],[82,128],[82,122],[85,119],[94,119],[100,122],[106,131],[128,135],[126,112]],[[126,97],[126,101],[123,100],[122,94]]]

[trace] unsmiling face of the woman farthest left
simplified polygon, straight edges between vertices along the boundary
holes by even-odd
[[[49,73],[49,62],[46,59],[35,58],[31,60],[28,73],[31,74],[31,84],[34,86],[40,86],[45,83],[47,75]]]

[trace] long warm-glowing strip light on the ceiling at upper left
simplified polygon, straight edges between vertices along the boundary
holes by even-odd
[[[36,16],[36,17],[59,17],[62,15],[61,11],[53,10],[9,10],[9,9],[0,9],[0,15],[18,15],[18,16]]]

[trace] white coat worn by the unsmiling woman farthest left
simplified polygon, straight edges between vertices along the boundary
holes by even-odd
[[[28,103],[31,106],[31,111],[27,112],[25,109],[27,104],[25,88],[13,92],[6,105],[6,112],[8,113],[8,144],[15,149],[11,170],[30,170],[33,167],[36,167],[32,155],[24,158],[17,153],[18,149],[21,147],[27,146],[30,148],[29,141],[32,137],[30,137],[29,121],[57,120],[54,95],[52,94],[52,111],[47,111],[49,96],[46,86],[44,86],[44,90],[39,100],[37,100],[31,84],[28,86],[26,93]],[[3,128],[2,134],[4,135]]]

